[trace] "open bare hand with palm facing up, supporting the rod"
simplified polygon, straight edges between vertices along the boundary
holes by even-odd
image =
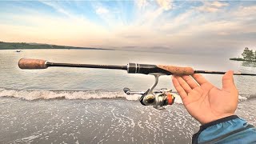
[[[222,90],[212,85],[201,74],[173,76],[175,89],[186,110],[202,125],[219,118],[234,115],[238,107],[238,90],[234,85],[233,71],[222,78]]]

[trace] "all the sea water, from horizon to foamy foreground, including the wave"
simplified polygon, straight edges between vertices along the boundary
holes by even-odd
[[[128,62],[191,66],[194,70],[256,73],[256,63],[230,61],[229,54],[168,54],[122,50],[0,50],[0,143],[190,143],[200,124],[177,95],[173,106],[142,106],[138,95],[154,76],[126,70],[50,67],[20,70],[20,58],[126,65]],[[203,74],[215,86],[222,75]],[[239,90],[237,114],[256,125],[256,78],[234,76]],[[156,89],[174,90],[170,76]]]

